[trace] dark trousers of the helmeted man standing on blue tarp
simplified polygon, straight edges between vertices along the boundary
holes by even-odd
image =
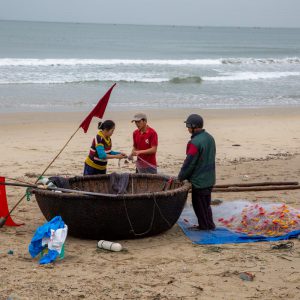
[[[197,189],[192,187],[192,204],[198,218],[200,230],[213,230],[216,228],[210,207],[211,190],[212,188]]]

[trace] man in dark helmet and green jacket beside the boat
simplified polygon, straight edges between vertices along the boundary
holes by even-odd
[[[216,182],[215,140],[203,129],[201,116],[192,114],[185,123],[192,136],[178,179],[186,179],[192,184],[192,204],[198,218],[198,229],[213,230],[215,224],[210,204],[211,190]]]

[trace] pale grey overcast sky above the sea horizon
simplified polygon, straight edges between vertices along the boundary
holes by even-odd
[[[300,0],[0,0],[0,19],[300,27]]]

